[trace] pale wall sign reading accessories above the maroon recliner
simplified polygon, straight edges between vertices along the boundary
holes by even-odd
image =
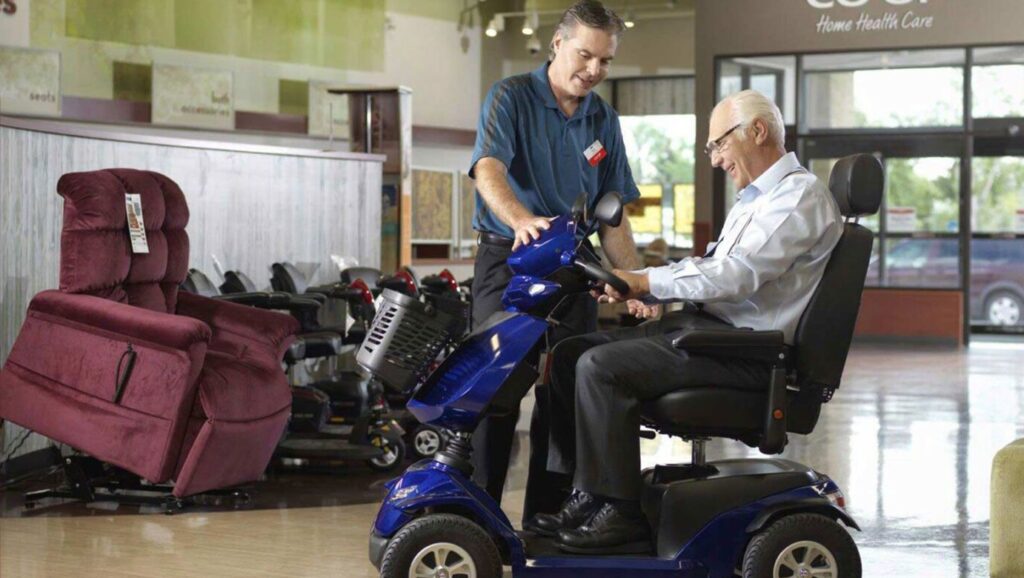
[[[233,130],[231,73],[154,65],[153,123]]]

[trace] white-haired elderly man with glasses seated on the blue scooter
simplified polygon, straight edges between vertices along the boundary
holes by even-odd
[[[843,226],[825,183],[786,154],[783,126],[778,108],[759,92],[719,102],[705,152],[739,193],[718,242],[702,257],[615,271],[629,294],[607,286],[602,295],[628,300],[638,317],[656,315],[647,303],[657,301],[688,301],[684,311],[555,347],[551,415],[565,417],[551,424],[548,469],[573,476],[573,490],[560,511],[537,514],[527,530],[557,535],[568,551],[649,550],[640,509],[640,402],[709,383],[763,388],[768,382],[761,363],[689,355],[672,340],[687,328],[730,324],[781,330],[793,343]]]

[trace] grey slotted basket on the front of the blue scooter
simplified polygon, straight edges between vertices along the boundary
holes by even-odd
[[[355,360],[387,385],[409,391],[437,354],[466,330],[469,307],[454,299],[426,304],[385,289]]]

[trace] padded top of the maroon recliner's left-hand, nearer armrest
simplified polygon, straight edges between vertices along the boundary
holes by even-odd
[[[196,343],[209,342],[212,335],[210,327],[202,320],[56,290],[43,291],[33,297],[29,312],[181,350],[188,350]]]

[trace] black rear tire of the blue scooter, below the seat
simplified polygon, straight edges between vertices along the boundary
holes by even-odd
[[[831,555],[833,561],[822,555],[814,555],[806,547],[797,547],[800,542],[812,542]],[[845,528],[836,521],[817,513],[794,513],[777,520],[759,533],[746,546],[743,554],[743,578],[785,578],[799,576],[786,572],[783,567],[775,572],[776,561],[787,550],[793,550],[793,560],[811,564],[814,568],[835,563],[836,578],[860,578],[860,552],[857,544]],[[814,560],[805,560],[813,555]]]

